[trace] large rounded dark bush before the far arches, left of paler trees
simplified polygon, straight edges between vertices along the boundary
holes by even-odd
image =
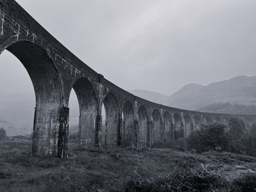
[[[200,130],[192,131],[187,138],[188,149],[197,150],[199,153],[208,150],[225,150],[227,148],[225,128],[223,124],[214,123],[210,126],[203,126]]]

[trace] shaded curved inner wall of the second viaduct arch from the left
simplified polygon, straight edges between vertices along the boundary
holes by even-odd
[[[97,115],[98,101],[92,83],[86,78],[75,80],[72,88],[78,98],[79,104],[79,128],[78,137],[80,144],[97,144]]]

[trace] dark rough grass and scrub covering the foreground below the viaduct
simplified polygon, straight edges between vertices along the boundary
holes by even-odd
[[[255,191],[256,188],[256,158],[246,155],[99,149],[70,143],[69,158],[61,161],[31,157],[30,151],[30,141],[0,142],[0,191]]]

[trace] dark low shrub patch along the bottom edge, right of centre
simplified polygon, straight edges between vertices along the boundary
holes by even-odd
[[[159,177],[130,178],[124,185],[124,191],[214,191],[225,188],[225,185],[219,175],[203,169],[176,168]]]

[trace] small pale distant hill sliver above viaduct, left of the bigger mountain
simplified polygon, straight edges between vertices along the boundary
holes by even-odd
[[[157,93],[154,91],[140,90],[140,89],[130,90],[128,92],[134,94],[135,96],[139,96],[143,99],[147,99],[148,101],[156,102],[158,104],[164,104],[166,99],[168,99],[168,97],[169,97],[162,93]]]

